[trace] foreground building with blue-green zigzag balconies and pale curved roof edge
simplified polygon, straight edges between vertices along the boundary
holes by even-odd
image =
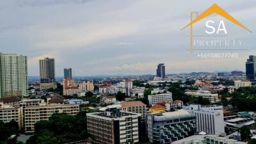
[[[150,143],[172,143],[196,132],[195,114],[184,110],[147,113],[145,120]]]

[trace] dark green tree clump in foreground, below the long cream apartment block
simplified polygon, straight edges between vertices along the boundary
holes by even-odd
[[[40,120],[35,124],[35,135],[28,144],[68,143],[88,138],[86,130],[86,113],[79,112],[76,116],[66,113],[55,113],[49,120]]]

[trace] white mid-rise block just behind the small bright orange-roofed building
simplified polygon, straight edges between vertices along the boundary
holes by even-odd
[[[148,95],[148,103],[152,106],[158,102],[172,101],[172,93],[160,93],[154,95]]]

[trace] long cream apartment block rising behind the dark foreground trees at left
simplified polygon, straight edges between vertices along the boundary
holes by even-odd
[[[67,113],[76,115],[79,113],[77,104],[44,104],[42,106],[28,106],[24,108],[24,128],[25,131],[33,131],[35,123],[40,120],[48,120],[54,113]]]

